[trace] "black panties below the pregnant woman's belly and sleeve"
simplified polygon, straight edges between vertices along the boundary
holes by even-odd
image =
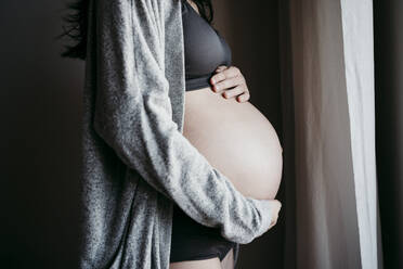
[[[173,204],[170,262],[218,257],[220,261],[235,246],[220,230],[198,223]]]

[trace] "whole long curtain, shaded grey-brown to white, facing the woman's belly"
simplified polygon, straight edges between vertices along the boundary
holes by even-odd
[[[285,268],[381,268],[372,1],[280,7]]]

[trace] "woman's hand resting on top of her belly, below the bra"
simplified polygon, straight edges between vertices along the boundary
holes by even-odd
[[[226,99],[235,97],[239,103],[249,100],[249,90],[238,67],[220,65],[214,73],[210,78],[214,92],[222,93],[222,97]]]

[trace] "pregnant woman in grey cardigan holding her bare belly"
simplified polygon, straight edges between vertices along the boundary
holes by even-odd
[[[70,8],[63,55],[86,60],[79,268],[233,268],[277,221],[282,148],[211,0]]]

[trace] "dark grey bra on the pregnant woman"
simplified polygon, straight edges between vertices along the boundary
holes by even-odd
[[[231,65],[231,49],[187,2],[182,0],[186,91],[210,87],[219,65]]]

